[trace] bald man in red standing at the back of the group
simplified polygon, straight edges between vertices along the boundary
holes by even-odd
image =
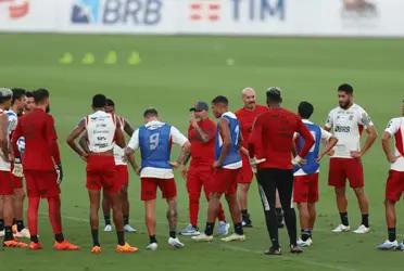
[[[242,156],[242,170],[238,180],[238,201],[242,214],[243,227],[252,227],[250,214],[248,211],[248,194],[254,173],[249,160],[248,142],[251,136],[254,120],[257,116],[268,111],[267,106],[256,104],[256,94],[253,88],[245,88],[241,91],[244,106],[236,112],[240,121],[243,146],[240,149]]]

